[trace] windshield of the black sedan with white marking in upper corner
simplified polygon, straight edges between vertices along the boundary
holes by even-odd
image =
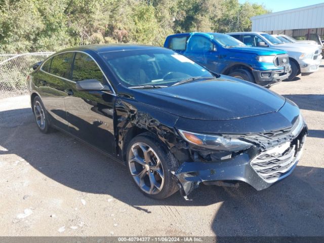
[[[207,69],[168,49],[107,52],[100,55],[126,87],[160,88],[158,86],[171,86],[191,77],[214,77]]]

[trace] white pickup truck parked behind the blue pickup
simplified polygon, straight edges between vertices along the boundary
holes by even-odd
[[[300,73],[308,75],[317,71],[322,59],[319,45],[283,43],[276,37],[264,32],[236,32],[227,34],[250,47],[271,47],[286,51],[292,68],[288,80],[292,80]]]

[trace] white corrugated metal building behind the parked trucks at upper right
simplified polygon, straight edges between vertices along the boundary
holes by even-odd
[[[287,34],[308,38],[310,34],[324,37],[324,3],[254,16],[252,31]]]

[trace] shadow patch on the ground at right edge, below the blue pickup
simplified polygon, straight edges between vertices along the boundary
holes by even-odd
[[[294,101],[299,108],[304,110],[324,111],[324,95],[284,95],[284,97]]]

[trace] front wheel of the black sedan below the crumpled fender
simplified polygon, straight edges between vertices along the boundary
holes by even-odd
[[[131,140],[127,149],[127,165],[137,188],[149,197],[164,199],[178,190],[171,173],[179,167],[170,150],[150,133]]]

